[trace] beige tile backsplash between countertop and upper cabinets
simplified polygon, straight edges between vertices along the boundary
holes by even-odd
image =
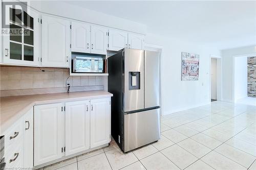
[[[103,85],[102,76],[70,76],[68,68],[1,66],[1,90]]]

